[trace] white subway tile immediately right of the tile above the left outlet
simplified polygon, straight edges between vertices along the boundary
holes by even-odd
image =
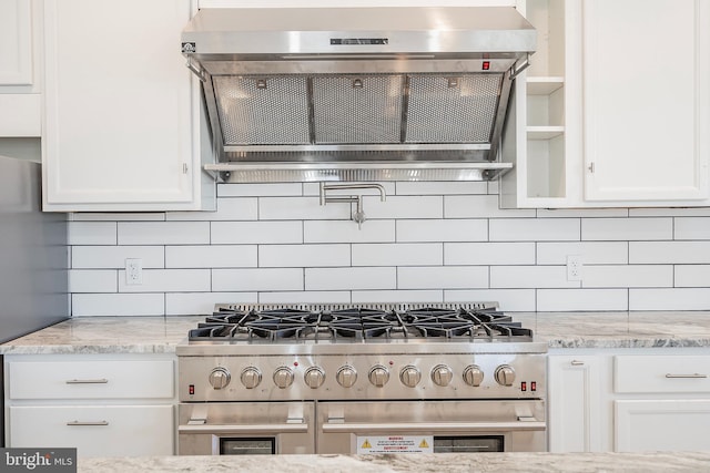
[[[256,266],[256,245],[179,245],[165,247],[166,268],[250,268]]]

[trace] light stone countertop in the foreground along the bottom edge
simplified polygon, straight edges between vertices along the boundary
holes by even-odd
[[[79,459],[78,471],[92,473],[234,471],[260,473],[706,473],[710,471],[710,452],[97,457]]]

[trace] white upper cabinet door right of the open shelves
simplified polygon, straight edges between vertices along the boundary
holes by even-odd
[[[710,6],[584,1],[588,200],[708,198]]]

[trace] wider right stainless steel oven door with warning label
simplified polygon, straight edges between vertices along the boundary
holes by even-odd
[[[318,453],[544,452],[545,402],[318,402]]]

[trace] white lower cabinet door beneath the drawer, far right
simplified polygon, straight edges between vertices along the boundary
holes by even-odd
[[[710,400],[616,401],[617,452],[710,450]]]

